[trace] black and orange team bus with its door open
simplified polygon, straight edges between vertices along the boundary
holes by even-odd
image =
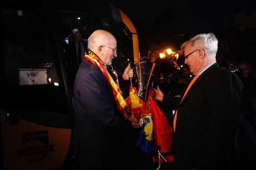
[[[128,62],[139,62],[136,29],[107,0],[8,0],[1,22],[0,169],[72,166],[74,108],[63,40],[73,28],[84,39],[96,29],[111,32],[121,74]]]

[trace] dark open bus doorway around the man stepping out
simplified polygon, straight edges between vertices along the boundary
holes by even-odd
[[[85,44],[84,50],[87,52],[87,39],[97,29],[103,29],[99,20],[94,16],[94,14],[82,13],[80,11],[70,11],[70,10],[59,10],[59,18],[61,20],[60,28],[61,30],[60,39],[62,40],[63,45],[63,60],[66,70],[66,75],[68,77],[69,91],[73,93],[73,84],[75,80],[72,61],[73,58],[77,59],[75,54],[75,40],[72,36],[72,30],[78,29],[82,34],[82,41]],[[85,43],[86,42],[86,43]],[[83,54],[85,55],[85,54]],[[78,60],[78,59],[77,59]],[[73,110],[74,112],[74,110]]]

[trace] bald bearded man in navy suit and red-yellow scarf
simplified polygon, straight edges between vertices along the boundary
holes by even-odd
[[[74,157],[82,170],[114,170],[122,152],[123,132],[139,126],[121,118],[120,101],[112,91],[117,87],[113,82],[118,84],[117,73],[110,66],[117,57],[115,37],[96,30],[88,39],[88,50],[74,85]],[[112,78],[107,76],[110,72]],[[130,65],[120,78],[129,77],[133,77]]]

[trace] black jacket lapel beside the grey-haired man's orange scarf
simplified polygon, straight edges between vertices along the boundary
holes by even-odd
[[[187,86],[185,87],[182,96],[180,97],[180,101],[181,104],[179,105],[179,107],[191,96],[193,95],[194,91],[200,86],[200,84],[209,76],[209,74],[215,70],[215,68],[218,67],[218,63],[214,63],[212,66],[210,66],[208,69],[206,69],[198,78],[197,80],[192,84],[192,86],[190,87],[189,91],[187,92],[187,94],[185,95],[184,99],[181,102],[181,99],[187,89],[187,86],[189,85],[189,83],[187,84]]]

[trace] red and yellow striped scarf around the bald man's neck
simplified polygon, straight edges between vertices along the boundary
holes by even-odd
[[[115,98],[115,101],[117,103],[117,107],[121,113],[121,116],[125,119],[128,119],[130,122],[138,122],[140,120],[140,117],[135,117],[130,108],[128,107],[126,101],[124,100],[120,88],[118,86],[118,83],[114,82],[113,78],[111,77],[110,73],[108,73],[106,69],[106,64],[103,63],[96,54],[94,54],[91,50],[89,50],[88,55],[84,57],[85,60],[93,63],[96,67],[98,67],[103,75],[106,77],[107,81],[109,82],[113,95]],[[117,72],[114,70],[115,74],[117,75]],[[118,80],[117,80],[118,82]]]

